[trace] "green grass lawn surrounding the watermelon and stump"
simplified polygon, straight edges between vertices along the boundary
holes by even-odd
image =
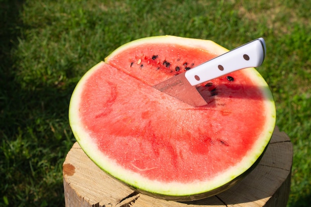
[[[260,73],[294,144],[289,207],[311,206],[311,3],[305,0],[0,0],[0,206],[64,206],[62,163],[81,75],[142,37],[264,37]]]

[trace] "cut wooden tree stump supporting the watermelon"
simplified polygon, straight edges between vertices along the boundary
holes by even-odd
[[[127,187],[97,167],[76,142],[63,165],[66,207],[285,207],[293,146],[276,127],[260,163],[242,181],[216,196],[193,202],[156,199]]]

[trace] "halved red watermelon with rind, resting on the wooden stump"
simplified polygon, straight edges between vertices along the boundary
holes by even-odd
[[[70,126],[102,170],[151,196],[192,201],[233,186],[256,166],[275,127],[272,93],[254,68],[198,86],[190,106],[153,85],[228,50],[175,36],[127,43],[79,80]]]

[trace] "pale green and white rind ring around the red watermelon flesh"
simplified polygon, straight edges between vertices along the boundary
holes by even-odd
[[[159,37],[149,37],[136,40],[130,43],[127,43],[120,48],[116,49],[111,53],[105,60],[109,64],[109,58],[122,53],[123,50],[126,50],[129,47],[135,47],[136,44],[145,44],[145,43],[156,43],[157,41],[163,42],[167,41],[169,43],[176,43],[183,45],[185,42],[191,42],[190,45],[202,48],[202,50],[207,50],[208,48],[213,47],[213,51],[216,51],[216,54],[221,55],[228,50],[222,46],[217,45],[216,43],[209,40],[196,40],[189,38],[180,38],[173,36],[159,36]],[[206,198],[209,196],[216,195],[220,192],[223,192],[235,184],[238,180],[242,179],[248,172],[251,171],[254,166],[260,160],[260,157],[263,155],[263,152],[268,145],[270,138],[275,127],[276,120],[276,110],[274,99],[272,93],[259,72],[254,68],[244,69],[245,72],[251,76],[251,79],[257,82],[257,85],[262,88],[262,93],[266,105],[266,114],[270,116],[267,117],[266,126],[263,129],[266,129],[262,132],[262,135],[257,140],[256,146],[253,150],[248,152],[249,155],[245,156],[244,159],[237,163],[234,166],[234,169],[228,169],[225,173],[222,173],[218,177],[214,178],[213,181],[205,182],[193,182],[193,183],[162,183],[159,181],[149,180],[142,177],[138,173],[129,172],[128,170],[123,169],[117,163],[114,163],[113,160],[103,156],[99,149],[97,149],[96,143],[92,141],[87,132],[83,130],[80,126],[80,118],[78,117],[78,106],[81,91],[83,89],[83,82],[92,75],[92,73],[102,67],[103,62],[100,62],[90,70],[88,70],[83,77],[78,82],[70,102],[69,108],[69,120],[72,127],[75,138],[77,139],[79,145],[84,150],[84,152],[94,161],[102,170],[110,174],[112,177],[124,182],[130,187],[147,193],[151,196],[157,198],[175,200],[175,201],[191,201]]]

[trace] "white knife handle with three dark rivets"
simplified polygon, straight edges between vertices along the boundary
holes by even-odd
[[[186,71],[185,77],[191,85],[197,85],[235,70],[258,67],[265,54],[265,41],[258,38]]]

